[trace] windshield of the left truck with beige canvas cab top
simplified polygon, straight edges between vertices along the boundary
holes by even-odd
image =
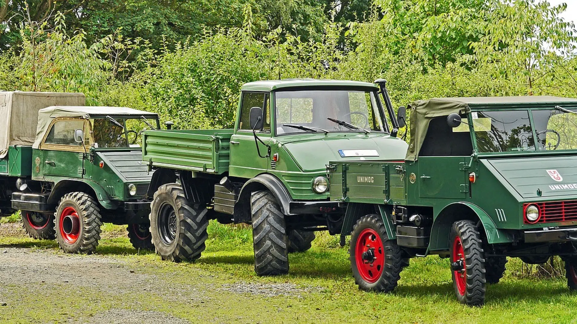
[[[94,118],[90,119],[95,148],[139,147],[141,132],[156,129],[156,119]]]

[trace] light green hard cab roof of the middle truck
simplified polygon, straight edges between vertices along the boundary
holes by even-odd
[[[346,80],[319,80],[319,79],[282,79],[248,82],[242,85],[241,91],[273,91],[282,88],[306,88],[310,86],[331,88],[374,88],[377,86],[369,82]]]

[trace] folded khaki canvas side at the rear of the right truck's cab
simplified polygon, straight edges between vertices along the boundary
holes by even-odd
[[[410,105],[411,140],[405,160],[417,160],[431,119],[448,116],[454,112],[467,114],[470,111],[469,104],[462,99],[464,98],[433,98],[418,100]]]

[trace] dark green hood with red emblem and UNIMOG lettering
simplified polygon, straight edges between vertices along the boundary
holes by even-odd
[[[481,160],[523,198],[577,194],[577,156]],[[491,167],[489,167],[492,166]],[[540,192],[539,195],[537,192]]]

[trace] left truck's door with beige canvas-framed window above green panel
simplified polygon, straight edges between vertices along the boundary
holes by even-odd
[[[82,129],[87,138],[86,120],[79,118],[58,118],[40,144],[35,165],[39,173],[46,177],[83,178],[85,147],[74,140],[74,131]],[[89,141],[85,140],[84,145]],[[86,148],[88,151],[88,148]]]

